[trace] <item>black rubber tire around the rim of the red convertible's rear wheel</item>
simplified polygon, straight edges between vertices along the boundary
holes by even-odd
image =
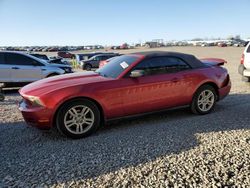
[[[199,97],[201,97],[200,95],[204,91],[207,91],[207,92],[211,91],[213,94],[213,97],[214,97],[213,104],[207,110],[201,110],[201,107],[198,105]],[[205,114],[210,113],[214,109],[214,106],[215,106],[216,101],[217,101],[217,97],[218,96],[216,94],[214,87],[212,87],[210,85],[203,85],[203,86],[199,87],[193,96],[193,100],[191,103],[191,111],[194,114],[200,114],[200,115],[205,115]]]

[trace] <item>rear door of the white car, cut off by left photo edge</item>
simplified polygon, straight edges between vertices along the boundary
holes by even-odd
[[[4,58],[4,53],[0,53],[0,82],[11,82],[11,66],[8,65]]]

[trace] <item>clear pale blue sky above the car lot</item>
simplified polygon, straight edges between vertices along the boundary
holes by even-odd
[[[250,0],[0,0],[0,46],[250,37]]]

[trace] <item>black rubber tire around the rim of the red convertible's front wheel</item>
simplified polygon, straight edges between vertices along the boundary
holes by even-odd
[[[81,105],[91,109],[91,111],[93,112],[92,115],[94,115],[94,121],[92,125],[90,126],[90,128],[86,130],[86,132],[76,134],[76,133],[71,132],[72,130],[70,131],[69,128],[66,127],[64,120],[66,117],[68,117],[67,113],[69,112],[70,109],[75,108],[77,106],[81,106]],[[94,133],[100,127],[101,125],[100,121],[101,121],[100,110],[98,109],[98,107],[96,106],[94,102],[87,100],[87,99],[77,99],[77,100],[73,100],[73,101],[65,103],[59,109],[56,115],[56,128],[63,135],[66,135],[67,137],[70,137],[70,138],[78,139],[78,138],[87,137],[91,135],[92,133]],[[77,129],[77,125],[75,124],[74,126],[76,127],[75,129]],[[72,126],[72,129],[74,129],[74,126]],[[88,127],[88,125],[84,125],[84,126]]]

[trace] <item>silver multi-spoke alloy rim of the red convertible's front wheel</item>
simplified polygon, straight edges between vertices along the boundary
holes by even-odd
[[[93,111],[84,105],[73,106],[64,116],[64,125],[73,134],[87,132],[93,126],[94,121]]]

